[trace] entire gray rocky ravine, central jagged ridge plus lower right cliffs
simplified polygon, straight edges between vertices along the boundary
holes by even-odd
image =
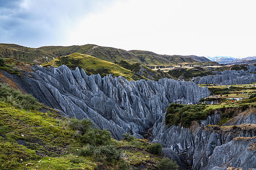
[[[67,66],[44,69],[35,67],[31,76],[18,76],[4,73],[13,78],[26,92],[33,94],[40,102],[58,109],[64,115],[76,118],[91,118],[96,126],[108,129],[114,138],[122,139],[123,133],[132,133],[142,138],[151,129],[152,142],[160,142],[164,153],[175,159],[181,167],[190,165],[193,169],[220,168],[234,166],[255,168],[255,149],[247,150],[255,138],[248,141],[232,140],[236,137],[254,137],[255,128],[237,133],[220,132],[220,129],[206,127],[220,120],[216,113],[201,121],[192,129],[164,125],[164,114],[170,103],[176,100],[183,103],[198,102],[208,96],[207,88],[193,82],[179,82],[172,79],[127,81],[122,77],[86,75],[84,70],[71,71]],[[247,116],[248,115],[248,116]],[[255,112],[237,117],[230,125],[255,124]],[[204,124],[204,125],[203,125]],[[212,129],[211,129],[212,128]],[[254,141],[253,141],[254,140]],[[240,148],[230,151],[230,146]],[[180,156],[181,154],[183,156]],[[220,154],[226,155],[220,162]],[[237,161],[241,158],[243,160]],[[185,160],[185,161],[184,161]],[[231,161],[230,161],[231,160]],[[250,160],[249,162],[246,162]],[[226,165],[224,165],[225,163]],[[217,166],[217,167],[216,167]]]

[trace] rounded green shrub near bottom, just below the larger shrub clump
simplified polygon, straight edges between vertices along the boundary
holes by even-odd
[[[114,162],[114,160],[119,160],[120,156],[120,151],[112,145],[100,146],[93,153],[93,158],[102,163]]]

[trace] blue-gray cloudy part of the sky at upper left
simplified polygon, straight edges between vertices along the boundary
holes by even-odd
[[[102,4],[108,6],[93,0],[3,1],[0,30],[5,35],[0,34],[0,40],[32,47],[62,45],[73,25],[90,12],[97,13]]]

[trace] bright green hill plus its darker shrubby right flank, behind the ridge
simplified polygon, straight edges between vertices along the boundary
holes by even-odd
[[[102,77],[112,74],[114,76],[123,76],[128,80],[138,79],[152,79],[158,80],[160,78],[172,78],[172,76],[164,73],[163,71],[153,71],[140,63],[130,64],[127,61],[120,61],[115,64],[112,62],[104,61],[96,57],[88,56],[86,54],[73,53],[69,56],[57,57],[50,62],[43,63],[42,66],[59,67],[67,65],[71,69],[84,69],[86,74],[100,74]]]

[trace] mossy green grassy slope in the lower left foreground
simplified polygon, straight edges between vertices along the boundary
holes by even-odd
[[[49,108],[48,108],[49,109]],[[123,157],[114,162],[80,155],[85,144],[69,120],[51,109],[47,113],[16,109],[0,102],[0,169],[154,169],[162,156],[147,152],[145,140],[115,141]]]

